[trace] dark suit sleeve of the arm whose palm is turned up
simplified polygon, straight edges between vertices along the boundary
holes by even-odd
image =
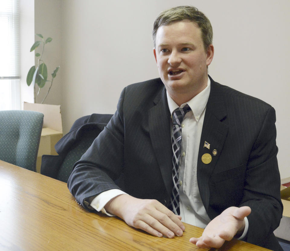
[[[244,196],[240,205],[250,206],[252,209],[247,217],[249,230],[246,241],[258,245],[267,242],[265,237],[279,226],[283,211],[275,121],[275,110],[270,107],[250,152]]]

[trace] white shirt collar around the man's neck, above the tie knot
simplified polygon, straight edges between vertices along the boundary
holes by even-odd
[[[196,121],[198,121],[200,115],[202,114],[202,112],[204,111],[206,107],[210,91],[211,91],[211,81],[208,78],[208,84],[206,88],[202,90],[200,93],[198,93],[191,100],[182,104],[180,107],[184,107],[186,104],[188,104],[193,112],[193,116],[195,117]],[[172,115],[172,112],[179,106],[173,101],[173,99],[169,96],[167,91],[166,91],[166,95],[167,95],[169,111],[170,111],[170,114]]]

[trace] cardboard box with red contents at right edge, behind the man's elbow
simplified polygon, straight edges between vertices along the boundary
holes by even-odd
[[[290,185],[290,177],[284,185]],[[285,179],[284,179],[285,180]],[[276,237],[290,241],[290,186],[281,185],[280,194],[284,206],[279,227],[274,231]]]

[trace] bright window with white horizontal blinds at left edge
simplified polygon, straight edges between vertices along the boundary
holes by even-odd
[[[0,110],[20,109],[19,0],[0,1]]]

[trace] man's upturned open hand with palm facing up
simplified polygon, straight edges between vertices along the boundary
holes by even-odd
[[[237,234],[242,235],[244,218],[250,213],[248,206],[231,206],[208,223],[201,237],[192,237],[189,241],[200,248],[220,248],[226,240],[233,239]]]

